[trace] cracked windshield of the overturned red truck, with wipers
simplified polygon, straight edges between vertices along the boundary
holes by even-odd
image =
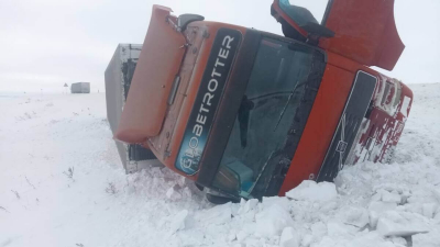
[[[271,157],[285,146],[312,60],[306,46],[261,41],[215,188],[244,198],[260,190]]]

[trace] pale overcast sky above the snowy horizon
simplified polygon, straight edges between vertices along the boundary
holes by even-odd
[[[176,15],[197,13],[282,34],[270,14],[271,0],[0,0],[0,92],[58,91],[76,81],[103,90],[114,48],[143,42],[153,3],[170,7]],[[385,75],[407,83],[440,82],[439,12],[440,0],[396,0],[406,48]]]

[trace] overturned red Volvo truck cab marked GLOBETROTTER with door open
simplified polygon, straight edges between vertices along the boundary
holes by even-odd
[[[275,0],[285,36],[170,12],[153,7],[132,78],[118,79],[130,87],[112,110],[122,111],[116,139],[207,188],[212,202],[284,195],[392,156],[413,92],[371,66],[392,70],[405,48],[394,0],[330,0],[320,23]],[[108,71],[124,67],[114,59]]]

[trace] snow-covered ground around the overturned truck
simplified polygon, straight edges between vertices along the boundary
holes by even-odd
[[[103,93],[0,93],[0,247],[439,247],[440,83],[410,88],[393,164],[219,206],[166,168],[127,176]]]

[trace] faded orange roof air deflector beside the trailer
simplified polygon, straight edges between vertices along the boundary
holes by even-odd
[[[168,21],[172,19],[177,23],[170,12],[169,8],[153,5],[148,31],[114,135],[124,143],[143,143],[161,132],[186,43],[184,35]]]

